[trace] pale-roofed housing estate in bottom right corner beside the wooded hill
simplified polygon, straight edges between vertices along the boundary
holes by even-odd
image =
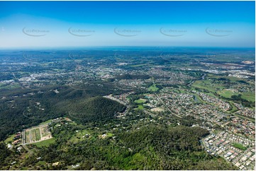
[[[255,169],[255,141],[222,131],[207,136],[202,142],[209,154],[220,155],[240,170]],[[243,149],[234,146],[234,143],[243,146]]]

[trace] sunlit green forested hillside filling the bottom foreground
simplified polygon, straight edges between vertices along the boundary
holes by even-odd
[[[150,124],[140,129],[116,133],[114,136],[98,129],[90,129],[87,138],[74,138],[75,130],[83,126],[63,124],[52,133],[56,143],[38,151],[46,163],[45,170],[67,170],[80,163],[77,170],[237,170],[223,158],[208,155],[200,145],[200,138],[208,131],[200,127],[161,126]],[[72,143],[73,141],[76,143]],[[30,163],[38,161],[32,156]]]

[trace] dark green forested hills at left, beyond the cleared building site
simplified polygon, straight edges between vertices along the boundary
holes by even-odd
[[[111,93],[114,93],[111,86],[87,86],[84,90],[68,86],[0,90],[1,95],[9,97],[0,99],[0,141],[22,129],[68,114],[71,119],[85,123],[124,111],[126,107],[118,102],[100,98]],[[36,105],[38,102],[40,105]]]

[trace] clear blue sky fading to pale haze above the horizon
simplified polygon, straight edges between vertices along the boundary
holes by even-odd
[[[0,47],[255,47],[255,1],[0,1]]]

